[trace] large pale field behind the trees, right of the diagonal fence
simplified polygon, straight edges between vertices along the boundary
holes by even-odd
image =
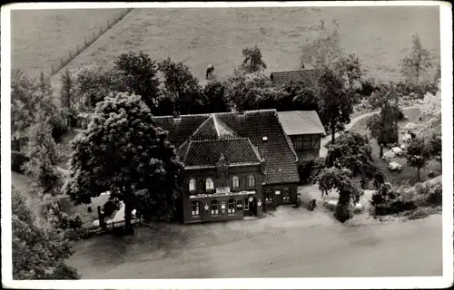
[[[370,76],[400,76],[411,34],[419,34],[439,59],[438,7],[134,9],[68,68],[109,66],[121,53],[143,51],[156,60],[170,56],[186,63],[199,80],[213,63],[222,78],[242,63],[242,48],[257,44],[267,73],[294,70],[301,45],[318,34],[321,19],[338,20],[341,46],[360,57]]]

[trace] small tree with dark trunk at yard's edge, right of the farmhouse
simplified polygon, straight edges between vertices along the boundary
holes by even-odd
[[[317,177],[322,194],[327,195],[332,189],[338,191],[339,201],[334,211],[334,216],[342,223],[350,219],[350,203],[357,203],[362,194],[350,177],[351,172],[349,169],[337,169],[334,167],[322,169]]]

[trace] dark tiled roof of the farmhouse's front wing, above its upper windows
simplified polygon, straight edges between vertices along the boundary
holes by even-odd
[[[180,160],[184,163],[185,167],[215,166],[222,155],[230,165],[257,164],[261,161],[247,138],[232,140],[192,140],[181,153],[183,153],[183,156]]]

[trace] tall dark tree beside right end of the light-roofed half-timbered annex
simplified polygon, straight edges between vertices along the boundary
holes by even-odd
[[[350,122],[353,111],[353,93],[344,88],[341,77],[331,69],[325,69],[319,82],[319,114],[323,126],[331,131],[332,144],[335,144],[335,133]]]

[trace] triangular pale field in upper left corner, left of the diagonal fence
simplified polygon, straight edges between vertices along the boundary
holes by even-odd
[[[119,9],[16,10],[11,13],[13,69],[36,77],[84,43]]]

